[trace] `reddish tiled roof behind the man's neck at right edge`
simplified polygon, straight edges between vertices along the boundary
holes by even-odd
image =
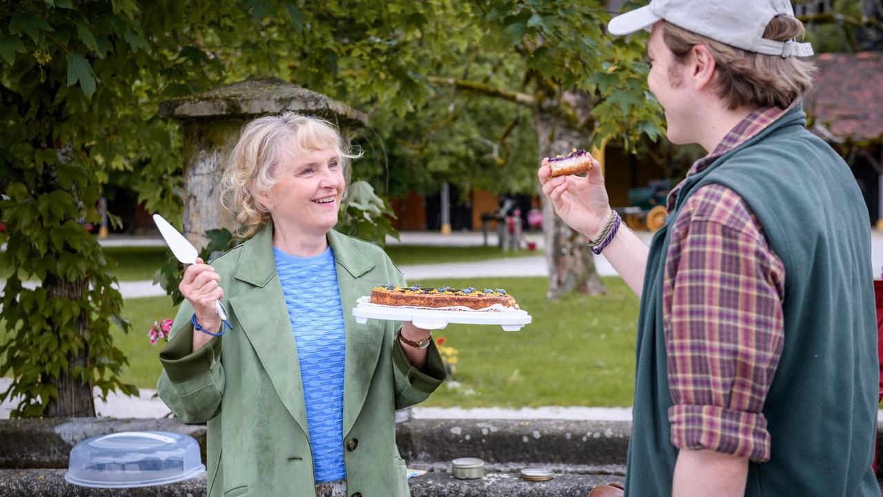
[[[837,141],[883,138],[883,52],[821,54],[815,61],[819,73],[805,104],[817,126]]]

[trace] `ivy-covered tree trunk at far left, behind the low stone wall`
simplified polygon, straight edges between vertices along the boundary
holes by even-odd
[[[50,281],[45,283],[46,292],[49,300],[53,299],[69,299],[78,301],[83,298],[83,294],[87,290],[87,282],[79,280],[74,282],[68,281]],[[87,332],[88,315],[87,311],[80,313],[76,320],[77,333],[83,336]],[[54,333],[57,333],[57,326]],[[89,383],[81,383],[75,376],[74,371],[86,367],[88,364],[89,348],[84,346],[77,353],[71,353],[67,356],[67,368],[61,371],[58,378],[49,378],[49,383],[56,386],[58,390],[58,399],[49,399],[46,408],[43,411],[45,417],[94,417],[95,404],[92,398],[92,386]]]

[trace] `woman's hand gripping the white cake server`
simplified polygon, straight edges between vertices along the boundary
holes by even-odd
[[[196,264],[192,264],[184,271],[184,278],[177,286],[187,302],[193,306],[196,321],[212,333],[220,332],[222,325],[221,317],[218,316],[215,307],[215,302],[223,297],[223,288],[218,284],[220,281],[221,275],[215,272],[215,268],[197,258]],[[193,330],[193,352],[211,339],[212,335]]]

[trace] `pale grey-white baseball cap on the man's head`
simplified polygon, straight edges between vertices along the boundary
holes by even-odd
[[[789,0],[651,0],[645,7],[610,19],[608,31],[617,36],[631,34],[664,19],[738,49],[782,58],[810,57],[810,43],[764,38],[766,25],[782,14],[794,16]]]

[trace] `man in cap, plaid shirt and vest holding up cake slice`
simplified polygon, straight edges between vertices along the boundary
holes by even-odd
[[[653,0],[609,26],[642,28],[669,140],[709,152],[651,246],[619,226],[598,164],[539,172],[641,296],[625,493],[879,495],[870,220],[847,164],[805,129],[803,26],[783,0]]]

